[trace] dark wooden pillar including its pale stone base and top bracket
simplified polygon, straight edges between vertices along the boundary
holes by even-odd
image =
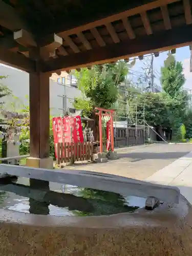
[[[29,75],[30,158],[27,165],[53,168],[53,160],[49,158],[49,74],[41,73],[39,65],[44,53],[38,48],[30,53],[36,61],[37,72]]]

